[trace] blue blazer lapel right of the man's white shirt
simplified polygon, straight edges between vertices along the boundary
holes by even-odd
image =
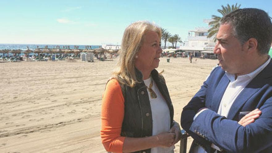
[[[271,70],[272,60],[270,60],[269,64],[253,80],[251,80],[239,96],[237,96],[228,113],[228,119],[233,119],[244,103],[267,83],[266,79],[270,79]]]

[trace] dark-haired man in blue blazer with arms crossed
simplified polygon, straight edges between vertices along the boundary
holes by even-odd
[[[181,114],[194,138],[190,152],[272,152],[270,17],[254,8],[233,11],[216,38],[219,66]]]

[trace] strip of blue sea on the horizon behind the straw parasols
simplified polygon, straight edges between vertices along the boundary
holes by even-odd
[[[40,49],[45,48],[45,46],[48,46],[48,48],[54,48],[56,46],[60,46],[60,49],[63,49],[63,46],[70,46],[70,49],[74,49],[74,46],[79,46],[79,49],[85,49],[86,45],[50,45],[50,44],[0,44],[0,50],[2,49],[21,49],[22,53],[21,55],[24,55],[23,52],[29,49],[35,50],[39,46]],[[91,46],[91,49],[96,49],[101,47],[100,45],[89,45]],[[2,55],[2,53],[0,53]]]

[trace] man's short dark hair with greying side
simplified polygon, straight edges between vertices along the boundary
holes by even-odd
[[[249,38],[255,38],[259,53],[269,52],[272,42],[272,23],[265,11],[256,8],[238,9],[221,19],[221,24],[225,23],[233,26],[233,35],[241,44]]]

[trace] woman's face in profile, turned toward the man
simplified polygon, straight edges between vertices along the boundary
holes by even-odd
[[[156,32],[148,31],[135,59],[135,66],[143,72],[151,72],[159,66],[159,57],[162,53],[160,38]]]

